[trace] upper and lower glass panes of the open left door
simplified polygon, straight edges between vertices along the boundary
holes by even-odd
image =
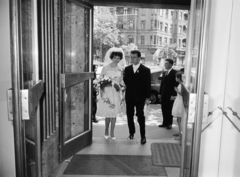
[[[66,2],[65,73],[89,71],[89,9]],[[80,135],[89,127],[89,81],[65,90],[64,139]]]

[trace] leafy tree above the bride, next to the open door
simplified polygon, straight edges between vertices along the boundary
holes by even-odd
[[[120,44],[123,39],[117,28],[117,17],[108,7],[94,8],[93,52],[103,59],[103,47],[110,48]]]

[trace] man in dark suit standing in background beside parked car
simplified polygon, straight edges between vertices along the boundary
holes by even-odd
[[[162,114],[163,114],[163,123],[158,127],[166,127],[167,129],[172,128],[173,116],[172,116],[172,107],[174,99],[177,95],[174,87],[178,85],[175,74],[176,70],[172,68],[173,60],[166,59],[164,63],[164,67],[166,71],[163,73],[161,86],[160,86],[160,95],[162,105]]]

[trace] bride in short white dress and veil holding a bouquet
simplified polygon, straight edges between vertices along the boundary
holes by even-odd
[[[123,113],[123,94],[122,87],[123,71],[125,66],[124,53],[121,49],[110,49],[105,56],[105,66],[103,67],[99,83],[99,98],[97,103],[97,116],[105,117],[105,139],[116,139],[114,129],[118,114]],[[109,135],[109,125],[111,131]]]

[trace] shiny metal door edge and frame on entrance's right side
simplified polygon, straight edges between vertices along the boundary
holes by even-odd
[[[192,77],[192,57],[193,57],[193,45],[194,45],[194,33],[196,28],[196,3],[200,2],[200,29],[199,29],[199,46],[198,46],[198,65],[195,74],[196,82],[194,83],[194,90],[190,90],[191,77]],[[199,159],[200,159],[200,148],[201,148],[201,131],[202,131],[202,118],[204,112],[204,95],[205,95],[205,82],[206,82],[206,68],[207,68],[207,52],[208,52],[208,39],[209,39],[209,27],[210,27],[210,14],[211,14],[211,1],[210,0],[192,0],[190,9],[190,21],[188,28],[188,40],[186,45],[186,56],[185,56],[185,86],[187,94],[185,98],[188,98],[192,92],[196,95],[195,103],[195,116],[193,123],[192,132],[192,145],[190,152],[190,176],[198,176],[199,171]],[[190,91],[189,91],[190,90]],[[184,96],[183,96],[184,100]],[[189,102],[187,103],[187,112],[190,107]],[[187,137],[187,124],[188,117],[183,119],[183,137],[182,137],[182,156],[180,177],[185,176],[185,167],[187,163],[186,154],[186,137]]]

